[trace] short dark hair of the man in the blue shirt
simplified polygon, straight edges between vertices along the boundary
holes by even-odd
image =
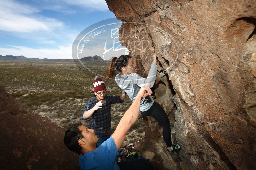
[[[78,144],[78,140],[84,138],[82,131],[78,129],[82,123],[77,123],[67,129],[64,136],[64,144],[70,151],[73,151],[77,154],[81,154],[82,147]]]

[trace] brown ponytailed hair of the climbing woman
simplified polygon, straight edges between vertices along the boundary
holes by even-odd
[[[117,71],[122,71],[122,67],[127,66],[128,60],[132,57],[130,55],[121,55],[120,57],[113,57],[110,61],[110,64],[108,66],[108,69],[106,70],[107,78],[104,80],[105,82],[116,75]],[[116,60],[117,59],[117,60]],[[116,60],[116,63],[115,63]]]

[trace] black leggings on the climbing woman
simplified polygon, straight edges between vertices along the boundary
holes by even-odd
[[[163,126],[163,137],[167,147],[172,146],[172,134],[170,121],[164,111],[164,109],[156,102],[147,111],[142,111],[141,114],[145,116],[152,116]]]

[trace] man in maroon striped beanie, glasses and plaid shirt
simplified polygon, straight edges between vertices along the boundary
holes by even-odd
[[[125,92],[123,90],[120,96],[106,95],[106,86],[100,77],[94,77],[94,95],[85,103],[82,112],[82,120],[90,118],[89,129],[93,129],[95,135],[99,138],[96,146],[99,147],[111,136],[111,104],[124,101]]]

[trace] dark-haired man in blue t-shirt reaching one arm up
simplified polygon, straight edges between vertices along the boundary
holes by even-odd
[[[149,84],[150,82],[147,86]],[[79,166],[81,170],[120,169],[115,158],[119,154],[118,149],[123,144],[127,132],[139,116],[141,99],[152,94],[151,89],[147,86],[141,87],[138,95],[130,108],[124,113],[112,136],[98,148],[96,148],[96,143],[99,139],[93,129],[88,129],[82,124],[75,124],[68,128],[65,132],[64,143],[69,150],[80,154]]]

